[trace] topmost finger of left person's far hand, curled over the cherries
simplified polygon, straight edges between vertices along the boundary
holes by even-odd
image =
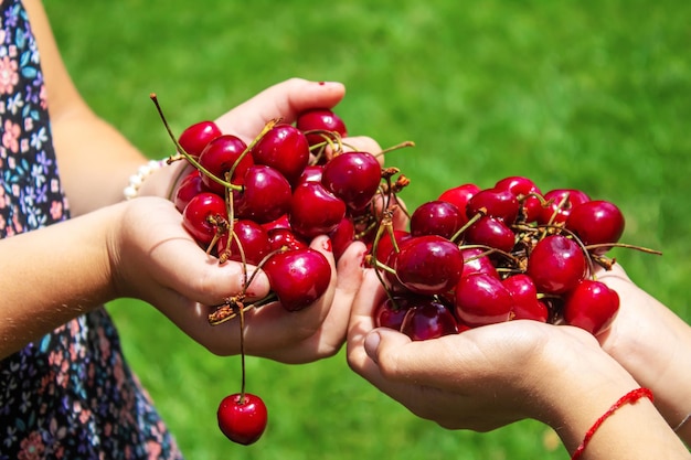
[[[344,95],[346,87],[341,83],[290,78],[230,110],[216,124],[224,132],[251,140],[272,119],[293,122],[307,109],[332,108]]]

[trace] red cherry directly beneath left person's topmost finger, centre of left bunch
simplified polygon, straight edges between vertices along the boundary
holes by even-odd
[[[309,145],[299,129],[278,124],[252,148],[252,157],[256,164],[275,168],[295,185],[309,162]]]

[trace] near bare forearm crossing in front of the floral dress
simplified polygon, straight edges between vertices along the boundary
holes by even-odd
[[[0,357],[114,298],[118,206],[0,240]]]

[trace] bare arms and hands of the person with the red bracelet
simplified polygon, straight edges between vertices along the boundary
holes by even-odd
[[[396,331],[375,328],[372,313],[384,293],[368,270],[351,315],[348,362],[413,414],[445,428],[488,431],[533,418],[554,428],[573,453],[593,424],[640,385],[648,386],[662,407],[691,407],[685,398],[674,397],[685,394],[688,385],[680,386],[689,368],[685,362],[672,366],[662,360],[658,368],[659,356],[646,356],[651,361],[642,363],[628,354],[635,346],[650,346],[652,355],[680,347],[689,339],[689,328],[656,303],[659,311],[646,317],[651,321],[647,331],[634,333],[628,329],[636,325],[634,315],[656,301],[617,270],[600,276],[623,290],[621,314],[608,336],[600,338],[603,346],[581,329],[528,320],[413,342]],[[666,340],[665,333],[672,330],[679,334]],[[645,343],[637,343],[639,339]],[[657,378],[658,371],[672,381]],[[665,411],[647,398],[624,405],[596,431],[582,458],[691,458],[669,425],[679,421],[681,408],[669,411],[677,415],[674,420],[666,420]]]

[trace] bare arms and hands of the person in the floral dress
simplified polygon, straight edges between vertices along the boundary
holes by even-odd
[[[85,104],[65,69],[41,2],[24,3],[42,53],[57,162],[74,218],[0,240],[0,357],[125,297],[149,302],[213,353],[238,353],[236,321],[210,325],[206,306],[241,292],[245,274],[237,263],[220,266],[182,228],[181,215],[167,196],[185,164],[155,172],[140,197],[123,201],[129,175],[147,158]],[[343,96],[340,83],[294,78],[216,121],[224,132],[251,140],[269,119],[290,122],[300,111],[333,107]],[[370,138],[349,142],[380,151]],[[326,236],[311,245],[327,256],[338,278],[333,276],[322,298],[300,312],[289,313],[277,303],[248,311],[248,354],[301,363],[341,347],[365,249],[352,245],[337,267]],[[268,289],[259,274],[247,289],[248,299],[264,297]]]

